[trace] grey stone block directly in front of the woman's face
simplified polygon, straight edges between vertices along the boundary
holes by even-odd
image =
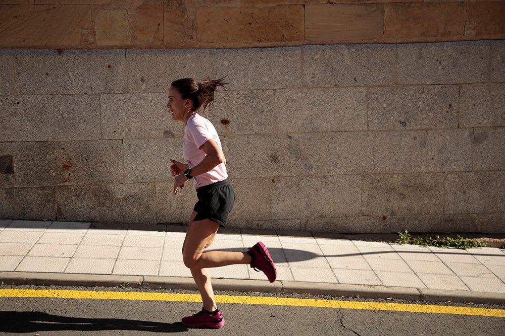
[[[182,137],[183,126],[172,120],[168,94],[112,94],[100,96],[105,139]]]

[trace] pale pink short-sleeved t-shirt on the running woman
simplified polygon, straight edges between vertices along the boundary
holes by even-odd
[[[182,154],[190,168],[196,166],[205,158],[206,154],[200,148],[210,139],[214,140],[219,148],[223,150],[218,132],[208,119],[197,113],[189,117],[187,125],[184,128]],[[226,166],[224,163],[220,163],[207,173],[194,176],[193,186],[196,189],[204,185],[224,181],[227,178]]]

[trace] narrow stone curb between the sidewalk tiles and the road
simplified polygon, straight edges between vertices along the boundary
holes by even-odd
[[[65,274],[35,272],[0,272],[5,285],[82,286],[197,290],[191,278],[157,276],[122,276],[99,274]],[[398,299],[409,301],[459,302],[505,305],[505,293],[437,290],[427,288],[309,283],[297,281],[212,279],[214,290],[236,292],[260,292],[273,294],[311,294],[335,297],[359,297],[361,299]]]

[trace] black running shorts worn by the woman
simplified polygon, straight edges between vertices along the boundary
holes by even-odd
[[[224,228],[235,203],[235,192],[228,179],[199,187],[196,196],[198,201],[193,210],[197,215],[193,221],[210,219]]]

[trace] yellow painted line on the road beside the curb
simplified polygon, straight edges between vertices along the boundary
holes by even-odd
[[[105,291],[69,291],[52,289],[0,289],[0,297],[29,298],[65,298],[65,299],[101,299],[101,300],[145,300],[200,302],[197,294],[172,294],[149,292],[105,292]],[[471,307],[435,306],[386,302],[357,302],[339,300],[271,298],[263,296],[216,295],[218,303],[258,304],[272,306],[321,307],[360,310],[387,310],[416,313],[437,313],[455,315],[476,315],[505,318],[505,309],[487,309]]]

